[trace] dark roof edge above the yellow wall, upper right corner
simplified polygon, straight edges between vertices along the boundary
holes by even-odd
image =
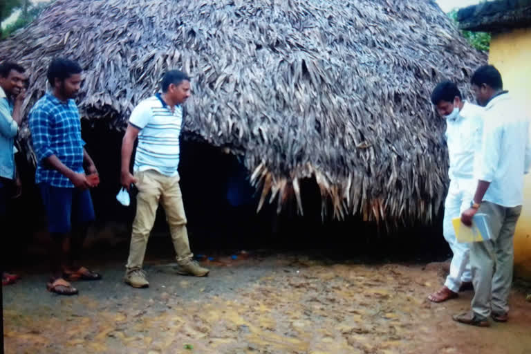
[[[530,0],[497,0],[462,8],[457,12],[462,30],[499,32],[531,27]]]

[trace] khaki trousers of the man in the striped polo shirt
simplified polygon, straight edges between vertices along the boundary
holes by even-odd
[[[179,176],[165,176],[158,171],[147,170],[135,174],[136,187],[136,216],[133,221],[131,234],[131,246],[127,270],[142,268],[147,247],[149,233],[155,223],[156,212],[159,202],[166,212],[166,221],[171,232],[171,241],[177,254],[178,263],[184,263],[192,259],[186,229],[185,207],[183,196],[180,193]]]

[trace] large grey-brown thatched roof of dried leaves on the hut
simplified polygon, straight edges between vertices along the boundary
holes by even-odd
[[[428,0],[57,0],[1,46],[30,67],[26,104],[65,55],[85,70],[84,118],[120,129],[182,68],[185,138],[239,154],[263,198],[300,207],[315,178],[324,214],[386,222],[439,209],[445,122],[429,94],[445,78],[467,88],[486,61]]]

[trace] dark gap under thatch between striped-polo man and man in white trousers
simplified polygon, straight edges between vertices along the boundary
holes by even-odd
[[[271,249],[326,253],[327,257],[418,260],[445,259],[442,211],[433,225],[384,230],[358,216],[344,221],[322,219],[321,196],[313,179],[302,180],[304,216],[295,201],[277,215],[277,203],[265,203],[256,212],[259,195],[248,182],[236,156],[221,149],[184,139],[181,142],[181,187],[191,242],[201,249]],[[419,256],[421,255],[421,256]]]

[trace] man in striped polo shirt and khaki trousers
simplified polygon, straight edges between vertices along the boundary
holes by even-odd
[[[162,78],[162,93],[143,100],[131,113],[122,141],[121,183],[127,189],[134,183],[138,189],[124,277],[125,283],[133,288],[149,286],[142,263],[159,202],[166,212],[177,263],[180,265],[179,274],[204,277],[209,272],[192,259],[177,171],[179,135],[183,126],[182,104],[190,95],[189,77],[180,71],[168,71]],[[133,176],[129,164],[137,137]]]

